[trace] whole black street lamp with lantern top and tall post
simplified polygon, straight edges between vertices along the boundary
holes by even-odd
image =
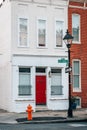
[[[68,108],[68,117],[73,117],[73,112],[72,112],[72,101],[71,101],[71,65],[70,65],[70,48],[73,40],[73,36],[69,34],[68,30],[66,32],[66,35],[63,38],[66,47],[68,49],[68,73],[69,73],[69,108]]]

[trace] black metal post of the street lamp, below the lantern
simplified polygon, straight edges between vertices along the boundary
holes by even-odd
[[[68,67],[70,68],[70,48],[68,48]],[[72,112],[72,102],[71,102],[71,72],[69,71],[69,108],[68,108],[68,117],[73,117]]]

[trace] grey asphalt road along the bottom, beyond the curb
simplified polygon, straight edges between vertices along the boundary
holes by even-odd
[[[87,130],[87,122],[49,124],[0,124],[0,130]]]

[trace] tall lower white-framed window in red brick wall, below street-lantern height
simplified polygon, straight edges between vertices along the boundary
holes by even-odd
[[[73,88],[75,90],[80,89],[80,61],[73,61]]]

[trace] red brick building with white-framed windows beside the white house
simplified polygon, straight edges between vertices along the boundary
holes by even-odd
[[[87,108],[87,0],[70,0],[68,29],[74,36],[71,47],[72,95],[78,107]]]

